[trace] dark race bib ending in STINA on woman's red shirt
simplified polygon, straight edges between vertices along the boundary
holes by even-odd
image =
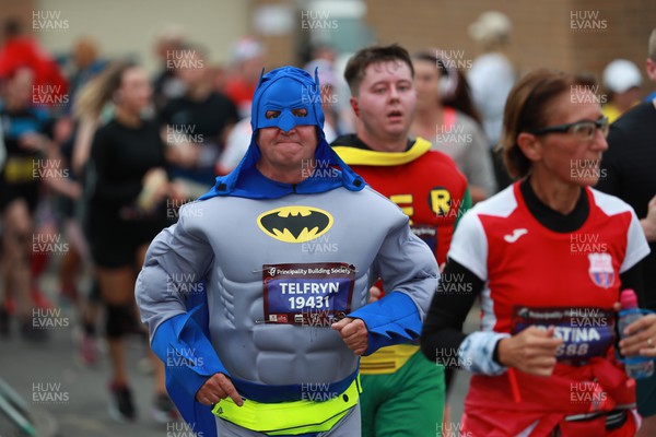
[[[511,333],[528,327],[555,328],[563,339],[555,357],[559,362],[582,365],[594,356],[605,356],[614,341],[614,318],[610,310],[590,307],[513,307]]]

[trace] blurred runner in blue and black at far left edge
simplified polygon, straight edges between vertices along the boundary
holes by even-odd
[[[39,160],[45,155],[50,140],[50,120],[47,113],[32,104],[34,72],[22,68],[7,80],[5,94],[0,105],[0,131],[7,150],[4,164],[0,167],[0,213],[2,214],[2,258],[0,274],[5,281],[0,308],[0,331],[9,333],[9,314],[21,319],[21,332],[28,340],[44,340],[45,329],[32,322],[33,308],[37,307],[31,294],[31,259],[33,244],[39,247],[39,235],[33,234],[33,214],[39,196]],[[35,177],[35,172],[37,176]],[[47,246],[47,244],[45,244]],[[46,253],[42,253],[46,255]]]

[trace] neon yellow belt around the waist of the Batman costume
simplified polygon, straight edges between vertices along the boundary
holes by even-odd
[[[345,391],[324,402],[261,403],[247,399],[237,406],[232,399],[225,398],[214,404],[212,413],[243,428],[270,436],[324,433],[358,404],[360,393],[358,376]]]

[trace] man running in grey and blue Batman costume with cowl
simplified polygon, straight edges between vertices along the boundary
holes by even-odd
[[[437,264],[326,142],[316,73],[265,74],[251,114],[239,165],[151,244],[141,318],[198,435],[359,436],[359,356],[419,336]]]

